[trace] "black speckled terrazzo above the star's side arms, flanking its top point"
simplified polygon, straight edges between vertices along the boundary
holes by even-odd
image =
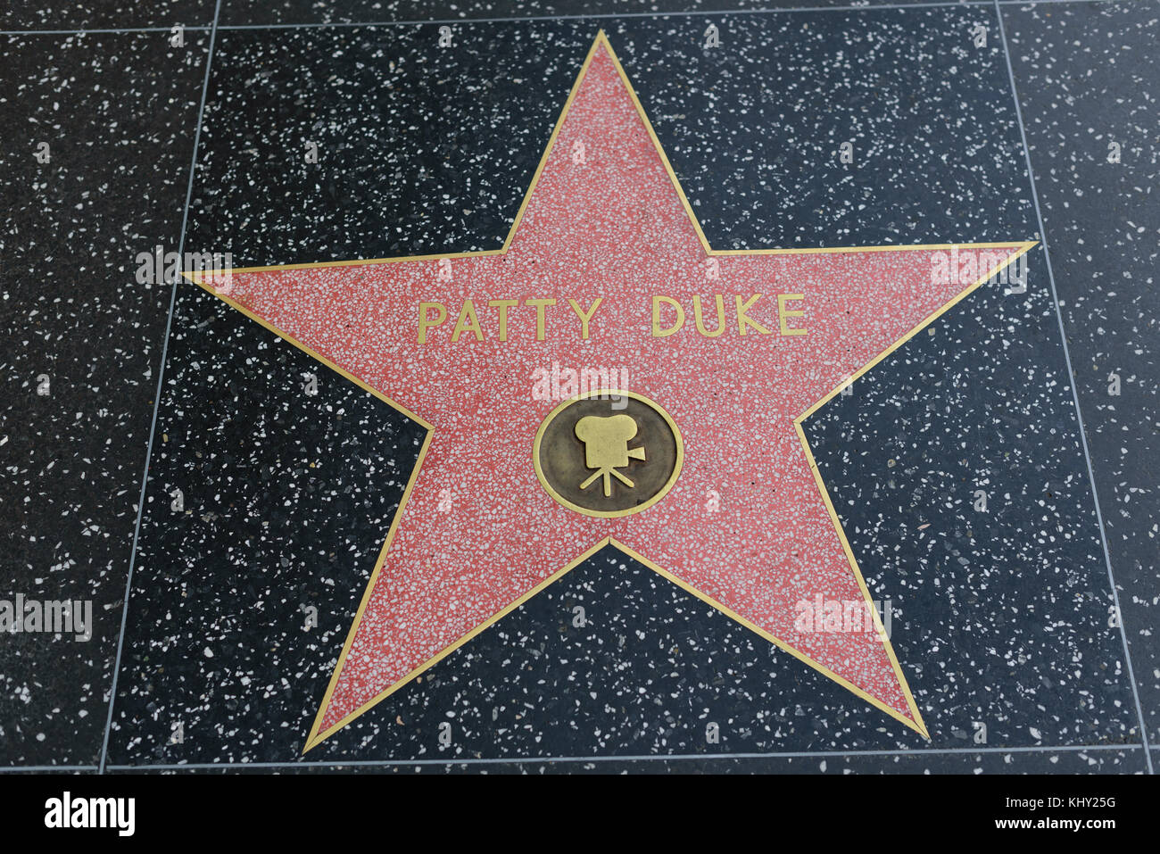
[[[993,9],[720,24],[717,51],[687,17],[476,23],[452,50],[432,24],[223,31],[190,241],[237,266],[500,246],[600,28],[713,246],[1034,236]]]

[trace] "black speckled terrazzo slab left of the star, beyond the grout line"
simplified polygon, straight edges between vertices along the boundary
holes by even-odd
[[[100,757],[169,307],[135,259],[176,249],[206,46],[0,36],[0,599],[92,600],[95,623],[0,638],[0,765]]]

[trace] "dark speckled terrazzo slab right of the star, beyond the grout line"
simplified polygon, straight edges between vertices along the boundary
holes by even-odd
[[[1148,741],[1160,743],[1160,3],[1012,8],[1012,59]],[[1109,162],[1121,146],[1119,162]],[[1112,395],[1116,375],[1119,395]]]

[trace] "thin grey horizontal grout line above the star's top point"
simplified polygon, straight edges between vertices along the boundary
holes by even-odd
[[[1140,0],[921,0],[920,2],[877,3],[865,2],[847,6],[792,6],[773,9],[689,9],[675,12],[622,12],[589,13],[585,15],[519,15],[508,17],[447,17],[404,21],[304,21],[300,23],[233,23],[219,24],[215,17],[212,23],[187,26],[186,31],[196,30],[280,30],[280,29],[324,29],[328,27],[419,27],[423,24],[470,24],[470,23],[520,23],[523,21],[583,21],[626,17],[724,17],[728,15],[775,15],[795,12],[865,12],[868,9],[930,9],[930,8],[970,8],[998,2],[1000,6],[1059,6],[1090,3],[1137,3]],[[176,26],[180,22],[174,22]],[[0,36],[74,36],[86,34],[111,32],[168,32],[171,27],[110,27],[101,29],[60,29],[60,30],[0,30]]]

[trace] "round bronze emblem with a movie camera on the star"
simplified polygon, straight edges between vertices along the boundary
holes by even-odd
[[[660,501],[681,473],[681,432],[631,391],[565,400],[536,432],[532,461],[548,494],[587,516],[628,516]]]

